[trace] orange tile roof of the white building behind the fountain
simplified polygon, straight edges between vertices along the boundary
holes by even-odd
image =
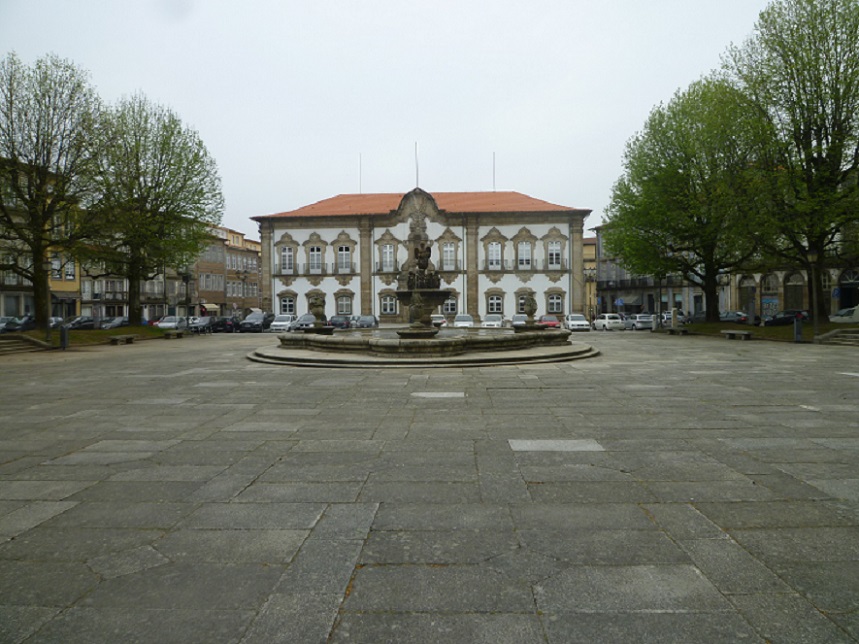
[[[317,201],[297,210],[251,217],[279,219],[287,217],[337,217],[342,215],[386,215],[396,210],[405,193],[338,195]],[[434,192],[439,210],[451,213],[473,212],[587,212],[569,206],[558,206],[534,199],[520,192]]]

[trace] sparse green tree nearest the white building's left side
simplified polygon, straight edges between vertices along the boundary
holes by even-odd
[[[105,243],[90,259],[128,280],[129,319],[141,319],[140,287],[190,265],[221,221],[217,165],[198,133],[171,110],[135,95],[106,110],[93,212]]]

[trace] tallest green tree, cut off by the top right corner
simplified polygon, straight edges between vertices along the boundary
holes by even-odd
[[[857,52],[856,0],[776,0],[752,37],[725,57],[774,132],[762,159],[770,203],[758,237],[782,264],[822,269],[855,250],[844,242],[859,222]],[[811,272],[823,292],[822,271]],[[809,284],[809,300],[811,293]],[[818,314],[825,315],[822,301]]]

